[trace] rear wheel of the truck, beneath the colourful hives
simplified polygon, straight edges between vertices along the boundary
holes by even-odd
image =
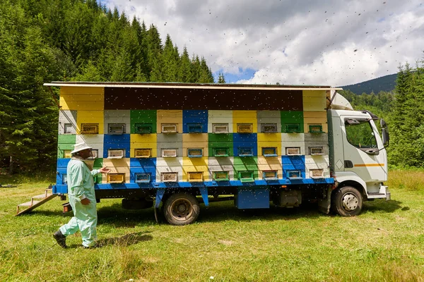
[[[196,197],[188,193],[170,195],[163,206],[165,219],[172,225],[186,225],[196,221],[200,207]]]

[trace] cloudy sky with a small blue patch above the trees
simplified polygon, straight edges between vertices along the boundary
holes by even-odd
[[[351,85],[424,58],[420,0],[102,0],[226,82]]]

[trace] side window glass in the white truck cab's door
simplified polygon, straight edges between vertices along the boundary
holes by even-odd
[[[363,148],[377,148],[374,132],[368,121],[359,121],[358,123],[345,123],[346,137],[351,145]]]

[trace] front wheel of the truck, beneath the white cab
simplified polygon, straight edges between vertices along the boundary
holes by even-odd
[[[362,210],[363,199],[360,192],[351,187],[344,186],[331,197],[331,207],[341,216],[356,216]]]

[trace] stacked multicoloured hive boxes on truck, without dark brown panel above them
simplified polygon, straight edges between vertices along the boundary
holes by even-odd
[[[325,182],[326,91],[299,93],[302,109],[139,109],[111,106],[105,87],[61,87],[57,185],[83,141],[112,170],[100,189]]]

